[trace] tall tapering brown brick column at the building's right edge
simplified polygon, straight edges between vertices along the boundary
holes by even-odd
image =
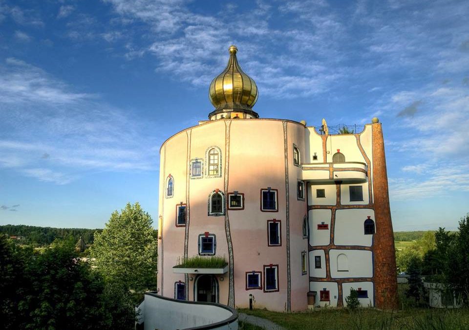
[[[376,221],[374,237],[375,306],[397,309],[397,274],[394,235],[389,209],[386,158],[383,130],[380,123],[372,125],[373,136],[373,192]]]

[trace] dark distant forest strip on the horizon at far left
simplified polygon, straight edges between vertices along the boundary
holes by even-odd
[[[103,229],[85,229],[85,228],[51,228],[27,226],[24,224],[0,225],[0,233],[8,236],[20,236],[23,238],[18,242],[33,245],[48,245],[55,239],[66,239],[72,237],[74,241],[78,241],[80,236],[86,244],[92,244],[94,241],[94,233],[101,232]]]

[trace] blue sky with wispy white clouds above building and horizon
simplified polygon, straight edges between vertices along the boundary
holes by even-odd
[[[394,230],[469,212],[469,1],[0,0],[0,224],[156,227],[159,148],[238,48],[254,110],[383,123]]]

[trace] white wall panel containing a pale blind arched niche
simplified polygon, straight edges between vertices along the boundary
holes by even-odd
[[[337,270],[337,256],[339,254],[347,256],[348,271]],[[366,250],[330,250],[329,263],[331,266],[331,277],[333,278],[353,278],[373,276],[373,255]]]

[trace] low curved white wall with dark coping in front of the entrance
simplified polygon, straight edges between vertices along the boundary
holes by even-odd
[[[187,304],[145,295],[145,330],[174,330],[209,325],[228,319],[233,314],[215,305]],[[236,330],[238,322],[223,325],[219,330]]]

